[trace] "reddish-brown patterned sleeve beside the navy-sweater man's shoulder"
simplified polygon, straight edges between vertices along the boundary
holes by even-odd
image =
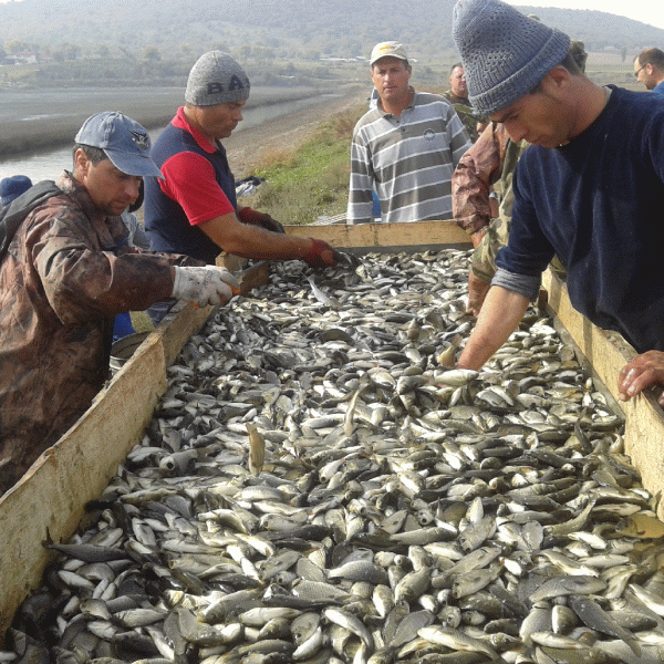
[[[501,124],[489,123],[461,157],[452,177],[454,218],[469,235],[489,225],[489,194],[491,185],[502,172],[508,141],[509,136]]]

